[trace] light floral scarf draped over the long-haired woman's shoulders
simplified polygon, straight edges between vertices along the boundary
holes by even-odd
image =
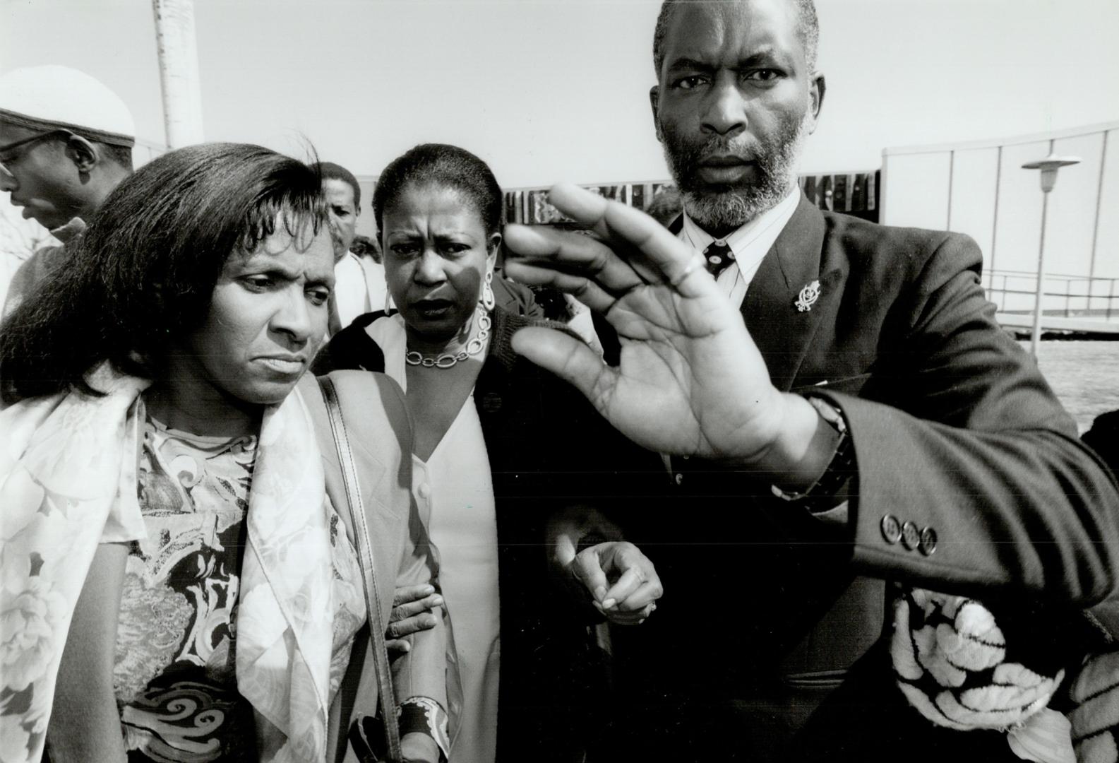
[[[145,536],[137,499],[143,380],[0,412],[0,761],[38,761],[74,605],[102,542]],[[263,418],[248,497],[236,672],[260,760],[322,760],[330,701],[330,505],[298,391]]]

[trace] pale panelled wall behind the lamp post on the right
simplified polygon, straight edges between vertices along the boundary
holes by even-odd
[[[1042,134],[883,151],[882,222],[971,235],[984,252],[984,286],[1004,314],[1032,313],[1041,239],[1055,275],[1042,283],[1042,313],[1078,325],[1119,320],[1119,226],[1113,206],[1119,122]],[[1037,175],[1022,169],[1046,153],[1083,159],[1057,183],[1046,232]],[[1057,323],[1061,323],[1060,320]],[[1110,326],[1108,327],[1111,328]]]

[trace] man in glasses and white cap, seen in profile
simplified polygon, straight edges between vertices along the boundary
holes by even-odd
[[[132,173],[134,136],[124,102],[87,74],[34,66],[0,76],[0,190],[64,244],[20,266],[4,314],[60,264],[65,245]]]

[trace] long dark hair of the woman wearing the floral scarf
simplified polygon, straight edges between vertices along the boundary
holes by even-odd
[[[153,379],[169,339],[205,319],[234,251],[252,252],[278,224],[309,243],[325,220],[318,173],[270,149],[207,143],[159,157],[109,195],[0,324],[0,397],[91,392],[84,376],[103,361]]]

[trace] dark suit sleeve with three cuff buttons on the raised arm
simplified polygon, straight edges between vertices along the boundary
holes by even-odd
[[[1119,495],[995,322],[975,242],[949,234],[902,295],[909,331],[875,381],[888,403],[820,393],[855,447],[854,560],[937,589],[1098,602],[1119,575]]]

